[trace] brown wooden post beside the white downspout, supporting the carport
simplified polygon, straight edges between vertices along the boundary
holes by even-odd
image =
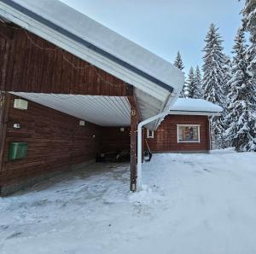
[[[133,101],[134,102],[134,101]],[[131,103],[131,185],[130,190],[137,188],[137,106]]]

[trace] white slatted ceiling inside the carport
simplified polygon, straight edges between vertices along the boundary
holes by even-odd
[[[12,93],[100,126],[130,126],[127,97]],[[29,106],[28,106],[29,107]]]

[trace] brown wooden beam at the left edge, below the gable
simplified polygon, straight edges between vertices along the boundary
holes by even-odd
[[[1,171],[3,170],[3,153],[9,117],[10,96],[10,94],[0,93],[0,177]]]

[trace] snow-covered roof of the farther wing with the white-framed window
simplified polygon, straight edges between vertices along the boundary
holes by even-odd
[[[170,107],[172,113],[190,113],[190,114],[219,114],[222,113],[223,108],[210,101],[203,99],[191,99],[191,98],[178,98]]]

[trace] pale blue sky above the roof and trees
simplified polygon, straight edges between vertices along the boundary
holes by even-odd
[[[61,0],[114,32],[173,62],[181,52],[185,71],[202,65],[209,25],[219,27],[230,55],[241,26],[244,0]]]

